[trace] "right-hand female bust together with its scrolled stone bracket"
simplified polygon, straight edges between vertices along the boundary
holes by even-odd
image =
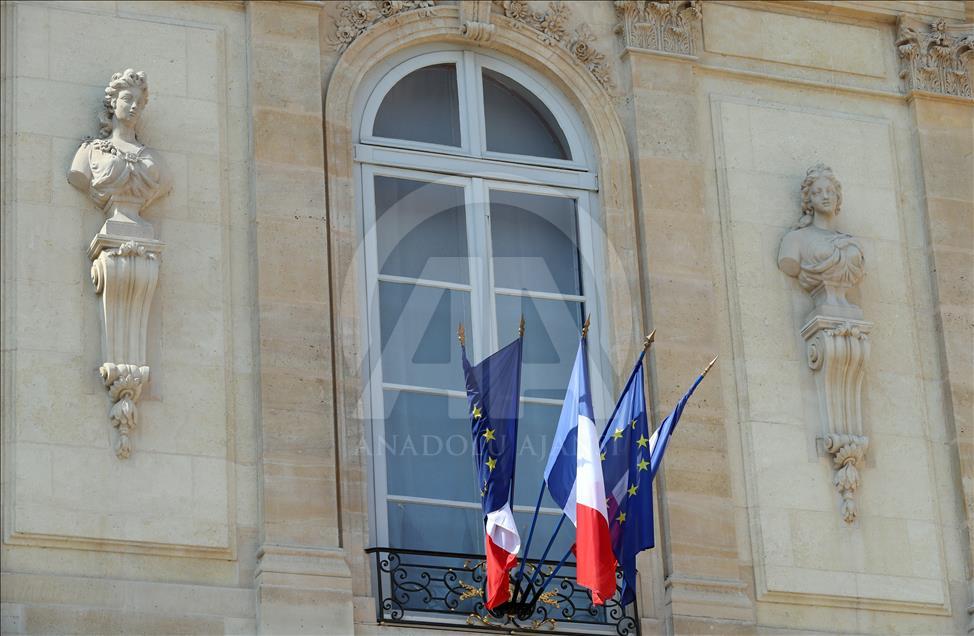
[[[862,429],[861,393],[872,323],[862,319],[862,310],[847,294],[865,274],[865,257],[855,237],[835,229],[842,185],[830,168],[810,168],[801,194],[802,216],[781,240],[778,267],[797,278],[815,303],[801,335],[815,374],[823,442],[834,463],[842,518],[852,523],[858,515],[859,471],[869,448]]]

